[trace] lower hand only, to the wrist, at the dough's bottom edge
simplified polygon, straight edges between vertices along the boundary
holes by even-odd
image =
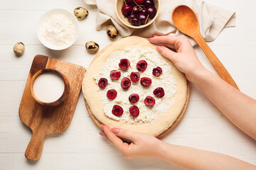
[[[127,159],[159,157],[161,141],[152,135],[131,132],[121,128],[110,129],[106,125],[101,125],[100,128],[102,128],[100,135],[114,147],[117,147]],[[119,137],[131,143],[123,142]]]

